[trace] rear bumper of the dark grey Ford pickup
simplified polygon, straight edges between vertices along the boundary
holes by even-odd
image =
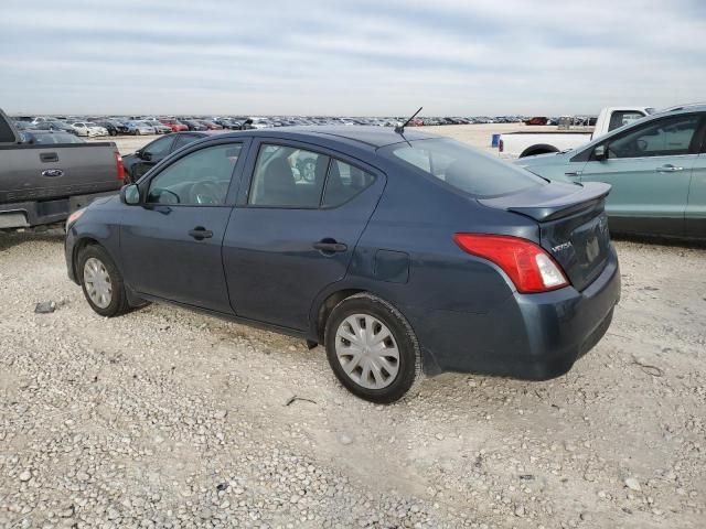
[[[26,228],[45,224],[63,223],[68,215],[81,207],[85,207],[96,198],[111,196],[118,190],[104,193],[92,193],[88,195],[76,195],[67,198],[41,202],[18,202],[11,204],[0,204],[0,217],[4,216],[8,222],[1,223],[2,228]],[[0,219],[1,220],[1,219]]]

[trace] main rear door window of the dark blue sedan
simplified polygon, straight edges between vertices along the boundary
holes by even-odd
[[[329,156],[287,145],[263,144],[257,155],[249,204],[319,207]]]

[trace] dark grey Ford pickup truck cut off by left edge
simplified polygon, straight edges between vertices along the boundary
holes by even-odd
[[[0,109],[0,229],[62,223],[124,177],[115,143],[23,142]]]

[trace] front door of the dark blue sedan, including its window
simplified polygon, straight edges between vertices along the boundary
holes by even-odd
[[[126,282],[137,292],[233,313],[221,247],[246,141],[195,145],[140,183],[120,226]]]

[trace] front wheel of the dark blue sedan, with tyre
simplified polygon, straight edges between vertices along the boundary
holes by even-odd
[[[104,248],[92,245],[81,250],[76,271],[86,301],[96,313],[114,317],[130,310],[122,276]]]

